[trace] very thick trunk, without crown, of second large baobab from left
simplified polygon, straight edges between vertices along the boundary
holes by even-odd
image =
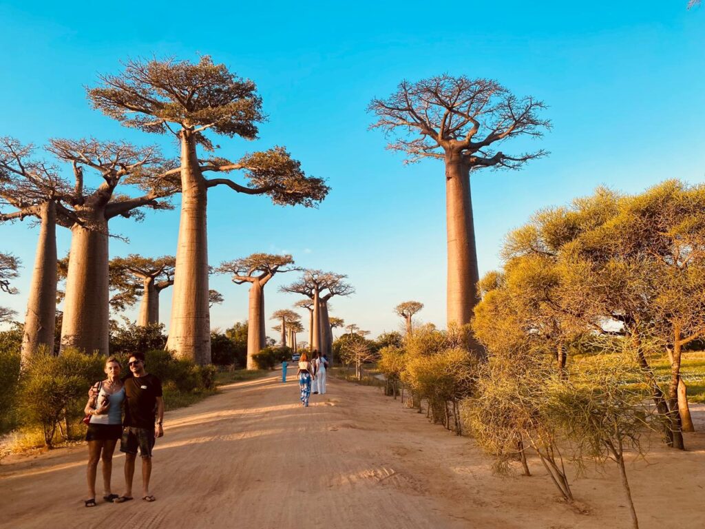
[[[63,302],[61,350],[108,354],[108,223],[98,208],[90,227],[71,228],[71,253]]]

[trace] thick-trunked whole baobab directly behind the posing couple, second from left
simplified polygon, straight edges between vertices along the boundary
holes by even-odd
[[[156,147],[126,142],[51,140],[47,149],[73,165],[75,186],[64,202],[78,217],[71,226],[71,251],[66,276],[66,298],[61,324],[61,349],[108,353],[109,336],[109,221],[114,217],[140,218],[138,208],[171,207],[157,200],[176,193],[176,186],[155,181],[164,171]],[[84,185],[84,169],[102,177],[97,188]],[[135,184],[146,192],[138,197],[116,195],[119,183]]]

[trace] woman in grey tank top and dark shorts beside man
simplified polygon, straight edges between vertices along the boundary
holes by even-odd
[[[121,365],[111,356],[105,360],[105,374],[108,378],[95,384],[85,407],[90,415],[86,441],[88,442],[88,499],[87,507],[95,506],[95,477],[98,461],[103,461],[103,499],[113,501],[118,497],[110,487],[113,472],[113,452],[123,433],[123,401],[125,388],[120,379]]]

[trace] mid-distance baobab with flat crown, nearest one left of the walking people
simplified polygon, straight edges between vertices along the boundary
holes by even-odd
[[[252,355],[264,347],[264,285],[278,272],[298,270],[292,267],[291,255],[253,253],[233,261],[221,262],[216,272],[232,274],[233,283],[250,284],[250,305],[247,316],[247,369],[257,369]]]

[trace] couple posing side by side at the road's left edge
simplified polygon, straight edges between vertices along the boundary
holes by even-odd
[[[130,355],[130,374],[120,379],[121,364],[115,357],[108,358],[104,371],[108,378],[91,387],[85,413],[90,415],[86,441],[88,442],[88,498],[85,506],[94,507],[95,478],[98,461],[103,461],[103,499],[111,503],[130,501],[137,448],[142,456],[142,499],[154,501],[149,492],[152,475],[152,448],[157,437],[164,435],[164,400],[161,381],[145,370],[145,356]],[[125,420],[122,419],[123,408]],[[125,453],[125,493],[111,492],[112,460],[115,445],[121,439],[120,451]]]

